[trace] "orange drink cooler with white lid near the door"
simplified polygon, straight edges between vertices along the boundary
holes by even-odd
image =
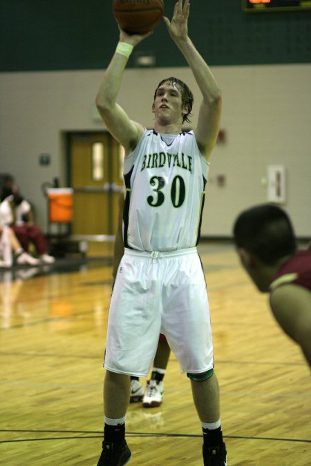
[[[73,189],[48,188],[49,221],[70,223],[73,220]]]

